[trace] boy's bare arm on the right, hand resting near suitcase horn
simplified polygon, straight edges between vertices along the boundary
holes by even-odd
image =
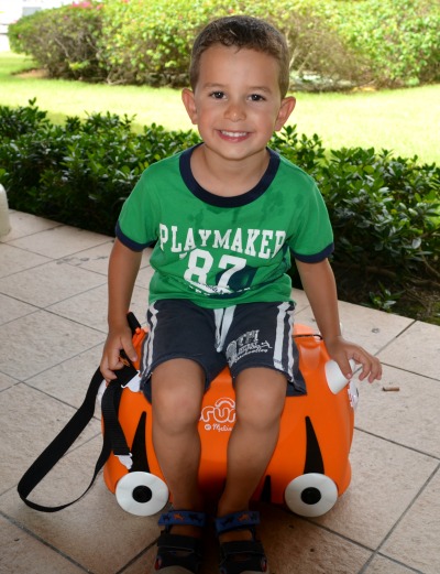
[[[342,337],[337,285],[329,261],[326,259],[319,263],[305,263],[296,260],[296,264],[330,357],[338,362],[339,368],[348,379],[352,377],[349,359],[354,359],[362,365],[360,380],[366,377],[369,377],[370,382],[373,382],[374,379],[381,379],[382,366],[380,360],[359,345]]]

